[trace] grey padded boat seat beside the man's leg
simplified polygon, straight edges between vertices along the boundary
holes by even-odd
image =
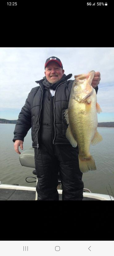
[[[27,150],[24,150],[19,155],[19,160],[22,166],[35,168],[35,152],[34,148],[29,148]]]

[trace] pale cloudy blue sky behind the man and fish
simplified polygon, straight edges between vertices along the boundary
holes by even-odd
[[[36,80],[44,77],[47,58],[58,57],[64,74],[99,71],[98,122],[114,122],[114,47],[0,47],[0,118],[15,120]]]

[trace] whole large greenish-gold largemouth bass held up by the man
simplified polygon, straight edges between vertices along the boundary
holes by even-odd
[[[72,84],[65,119],[68,124],[66,137],[73,147],[79,148],[79,168],[82,173],[96,170],[95,161],[90,154],[90,145],[102,141],[97,131],[97,113],[102,112],[97,103],[96,91],[91,83],[95,71],[75,75]]]

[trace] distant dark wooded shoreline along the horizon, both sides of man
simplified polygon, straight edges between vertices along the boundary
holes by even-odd
[[[2,119],[0,118],[0,124],[16,124],[17,120],[7,120],[7,119]],[[113,128],[114,127],[114,122],[102,122],[98,123],[98,127],[109,127]]]

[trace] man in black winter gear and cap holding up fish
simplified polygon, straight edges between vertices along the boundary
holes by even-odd
[[[35,149],[35,168],[38,177],[38,200],[59,200],[58,172],[63,194],[62,200],[82,200],[83,181],[79,169],[78,147],[74,148],[65,134],[67,123],[64,111],[68,102],[72,74],[65,75],[63,65],[55,56],[46,60],[45,77],[36,81],[18,116],[14,130],[14,149],[20,154],[23,141],[31,128],[32,146]],[[92,86],[98,91],[100,72],[96,72]]]

